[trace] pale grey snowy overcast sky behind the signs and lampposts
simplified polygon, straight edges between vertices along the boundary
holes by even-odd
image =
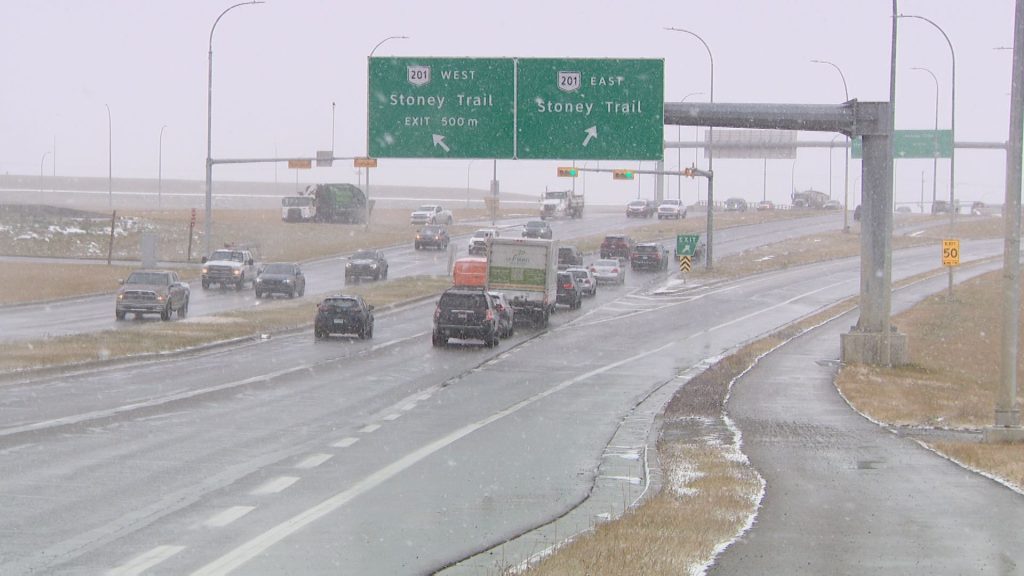
[[[217,15],[232,2],[209,0],[0,0],[0,173],[105,176],[108,117],[116,177],[156,177],[161,127],[165,178],[204,177],[207,49]],[[1013,42],[1011,0],[901,0],[905,14],[926,16],[948,34],[956,51],[957,141],[1001,141],[1008,133]],[[367,55],[377,56],[645,57],[665,59],[665,98],[707,99],[708,54],[715,56],[715,99],[728,102],[838,104],[839,66],[850,96],[889,95],[891,0],[689,0],[468,2],[435,0],[340,2],[267,0],[231,10],[213,42],[214,157],[312,156],[332,140],[338,156],[364,154]],[[950,55],[942,35],[925,22],[899,26],[897,129],[928,129],[950,120]],[[666,128],[675,140],[694,128]],[[830,138],[801,133],[801,139]],[[54,141],[56,143],[54,154]],[[49,153],[49,155],[47,155]],[[693,161],[684,151],[683,163]],[[669,150],[667,166],[677,154]],[[767,197],[786,201],[791,183],[828,191],[828,152],[804,150],[768,162]],[[833,156],[833,193],[842,194],[843,161]],[[536,193],[564,187],[555,167],[566,162],[499,161],[502,190]],[[606,162],[603,167],[611,167]],[[621,163],[626,164],[626,163]],[[635,167],[636,163],[631,163]],[[705,165],[701,158],[700,164]],[[851,162],[851,186],[860,163]],[[948,164],[939,163],[940,197]],[[715,163],[716,196],[760,200],[759,160]],[[376,182],[485,189],[492,163],[477,160],[381,160]],[[916,201],[922,175],[931,197],[931,161],[897,164],[897,202]],[[293,179],[279,168],[282,180]],[[303,180],[355,181],[350,166],[301,174]],[[216,167],[215,179],[273,181],[271,166]],[[1004,157],[995,151],[957,154],[957,196],[1001,202]],[[639,194],[652,197],[645,178]],[[676,182],[669,190],[676,194]],[[692,201],[696,183],[683,182]],[[624,202],[635,182],[588,176],[588,194]],[[851,200],[851,204],[853,200]]]

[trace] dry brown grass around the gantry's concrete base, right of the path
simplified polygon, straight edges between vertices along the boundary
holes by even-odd
[[[847,399],[871,418],[892,424],[990,425],[999,386],[1001,273],[954,287],[952,301],[945,292],[934,295],[893,324],[907,335],[910,364],[844,367],[837,385]]]

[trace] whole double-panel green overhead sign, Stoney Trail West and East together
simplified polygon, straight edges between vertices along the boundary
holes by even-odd
[[[660,160],[665,61],[370,58],[369,156]]]

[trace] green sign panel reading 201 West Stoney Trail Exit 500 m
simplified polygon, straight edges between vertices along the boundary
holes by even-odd
[[[513,158],[511,58],[370,58],[370,156]]]

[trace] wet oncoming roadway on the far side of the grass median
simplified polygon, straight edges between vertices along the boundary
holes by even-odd
[[[699,217],[699,215],[691,215],[690,217]],[[524,221],[524,218],[516,218],[499,222],[499,225],[508,229],[512,234],[517,234],[514,227],[521,225]],[[649,220],[626,218],[624,214],[617,213],[594,213],[579,220],[553,220],[551,225],[556,239],[571,242],[575,238],[629,230],[644,223],[649,223]],[[722,256],[786,238],[829,230],[835,231],[841,225],[841,215],[825,214],[801,219],[800,227],[794,227],[792,221],[786,220],[724,229],[716,233],[715,253],[717,256]],[[411,227],[410,238],[412,238],[413,231],[414,229]],[[465,255],[467,240],[468,237],[454,238],[452,246],[456,251],[452,255],[431,250],[417,251],[412,246],[412,242],[408,245],[388,248],[385,250],[385,254],[390,264],[389,278],[419,275],[445,276],[449,273],[449,262],[452,257]],[[674,239],[671,240],[674,241]],[[329,257],[307,262],[303,265],[303,272],[306,275],[307,294],[335,292],[344,287],[343,257]],[[199,286],[199,282],[193,282],[191,287],[188,313],[193,317],[258,306],[262,303],[255,297],[250,288],[242,291],[217,287],[203,290]],[[146,316],[137,320],[129,317],[129,320],[124,323],[115,321],[113,291],[110,294],[71,300],[0,306],[0,341],[31,340],[66,334],[113,330],[136,322],[159,322],[159,319],[156,316]]]

